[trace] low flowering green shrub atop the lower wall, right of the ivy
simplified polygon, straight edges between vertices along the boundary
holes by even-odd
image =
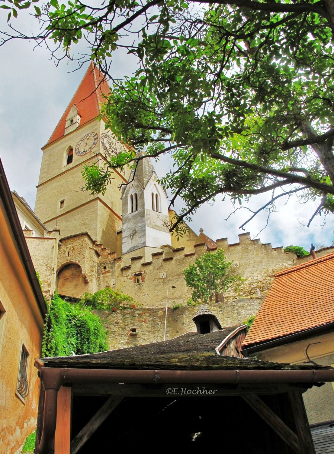
[[[96,291],[94,295],[85,293],[80,303],[84,306],[91,306],[91,309],[95,311],[116,311],[117,309],[136,307],[135,301],[131,296],[124,295],[121,291],[113,290],[110,287]]]

